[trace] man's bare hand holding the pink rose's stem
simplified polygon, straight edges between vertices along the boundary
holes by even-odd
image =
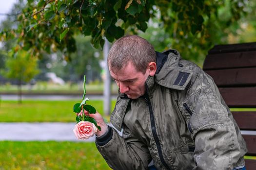
[[[80,113],[77,113],[77,116],[82,116],[82,111]],[[89,114],[89,112],[87,112],[86,110],[84,110],[84,114],[86,116],[89,116],[91,118],[94,118],[97,121],[97,125],[100,126],[101,131],[97,131],[96,135],[97,136],[101,136],[103,134],[105,134],[107,132],[108,126],[107,124],[104,122],[104,119],[102,118],[102,116],[96,112],[95,114]]]

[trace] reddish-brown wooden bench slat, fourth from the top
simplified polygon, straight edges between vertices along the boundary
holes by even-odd
[[[220,87],[219,92],[229,107],[256,107],[256,87]]]

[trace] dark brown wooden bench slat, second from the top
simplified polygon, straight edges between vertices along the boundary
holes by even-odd
[[[203,69],[256,67],[256,51],[208,54]]]

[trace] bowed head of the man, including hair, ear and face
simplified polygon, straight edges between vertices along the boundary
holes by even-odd
[[[111,47],[108,66],[120,92],[137,99],[145,93],[148,76],[156,73],[156,52],[147,40],[137,35],[124,36]]]

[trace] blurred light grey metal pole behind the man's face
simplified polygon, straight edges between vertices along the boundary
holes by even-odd
[[[110,109],[111,109],[111,78],[110,73],[107,65],[107,58],[108,58],[108,52],[109,52],[109,42],[107,39],[105,39],[105,44],[103,47],[103,55],[104,55],[104,72],[105,72],[105,80],[104,80],[104,114],[109,115]]]

